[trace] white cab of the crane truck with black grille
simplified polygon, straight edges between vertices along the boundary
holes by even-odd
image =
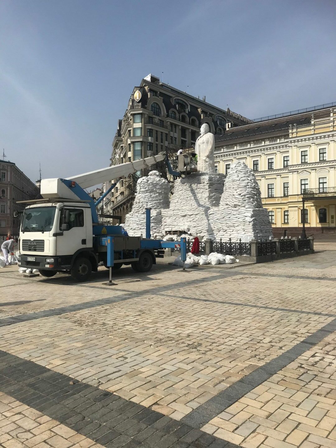
[[[87,258],[82,275],[97,271],[93,248],[90,205],[85,202],[44,202],[25,208],[20,229],[20,265],[38,269],[52,277],[57,271],[71,271],[77,258]]]

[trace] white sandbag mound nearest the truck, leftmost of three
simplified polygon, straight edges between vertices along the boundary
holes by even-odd
[[[124,228],[129,236],[146,234],[146,208],[151,208],[151,235],[162,235],[161,210],[169,207],[170,186],[158,171],[149,172],[137,182],[132,211],[126,215]]]

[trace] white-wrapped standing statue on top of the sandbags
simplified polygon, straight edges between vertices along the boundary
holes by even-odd
[[[201,135],[195,143],[197,154],[197,171],[215,172],[215,136],[209,132],[209,125],[204,123],[201,126]]]

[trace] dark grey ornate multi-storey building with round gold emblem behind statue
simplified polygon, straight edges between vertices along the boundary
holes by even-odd
[[[203,99],[188,95],[159,78],[148,75],[140,86],[135,86],[122,120],[118,121],[112,143],[111,164],[121,164],[156,155],[161,151],[177,153],[181,147],[193,146],[203,123],[209,125],[213,134],[223,134],[226,129],[249,123],[250,120],[223,110]],[[131,211],[135,185],[135,173],[112,190],[104,201],[104,213],[122,216]],[[105,191],[115,180],[103,186]]]

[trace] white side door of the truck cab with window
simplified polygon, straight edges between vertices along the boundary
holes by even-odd
[[[57,236],[57,255],[73,255],[86,247],[85,213],[79,207],[60,209],[59,234]]]

